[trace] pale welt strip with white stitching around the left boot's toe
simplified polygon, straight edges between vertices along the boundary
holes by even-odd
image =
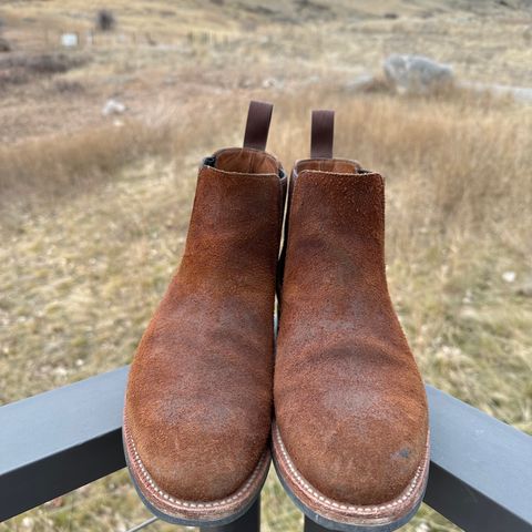
[[[246,481],[246,483],[238,489],[233,495],[227,497],[225,499],[219,499],[218,501],[211,501],[211,502],[198,502],[198,501],[182,501],[172,497],[170,493],[166,493],[162,490],[153,480],[151,474],[147,472],[144,463],[141,460],[139,451],[136,450],[136,446],[133,441],[133,438],[130,436],[126,426],[123,426],[125,440],[127,444],[127,451],[131,458],[131,462],[134,467],[137,467],[140,471],[135,471],[135,474],[139,477],[141,482],[144,484],[145,489],[149,490],[150,494],[157,500],[160,500],[163,504],[177,507],[177,510],[182,511],[191,511],[191,510],[205,510],[205,509],[225,509],[227,507],[235,505],[237,502],[245,500],[248,492],[254,488],[254,483],[259,480],[260,472],[263,471],[264,464],[267,461],[267,454],[263,454],[260,460],[258,461],[256,468],[254,469],[252,475]]]

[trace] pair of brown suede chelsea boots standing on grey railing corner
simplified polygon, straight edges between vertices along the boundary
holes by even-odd
[[[383,180],[334,158],[334,113],[315,111],[288,184],[265,152],[272,109],[252,102],[244,147],[201,165],[181,265],[131,367],[131,477],[160,518],[222,525],[273,456],[311,520],[396,530],[421,503],[429,430],[388,295]]]

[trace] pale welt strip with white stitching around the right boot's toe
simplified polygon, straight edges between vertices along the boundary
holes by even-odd
[[[299,471],[296,469],[294,462],[291,461],[285,444],[283,443],[283,440],[280,439],[280,431],[277,427],[277,424],[274,424],[273,428],[273,434],[275,438],[275,442],[278,446],[278,449],[280,450],[280,457],[286,463],[285,463],[285,469],[287,470],[287,473],[290,475],[290,480],[301,490],[304,491],[308,497],[316,499],[316,502],[318,504],[321,504],[324,507],[328,507],[329,510],[341,510],[341,511],[350,511],[354,513],[358,514],[365,514],[362,516],[368,516],[368,514],[379,512],[381,510],[396,510],[398,507],[405,507],[407,505],[407,502],[410,502],[409,500],[412,499],[412,495],[416,492],[416,488],[419,485],[419,481],[424,478],[422,474],[424,470],[427,469],[428,464],[428,456],[429,456],[429,434],[427,437],[427,444],[426,444],[426,454],[423,458],[423,461],[421,466],[418,467],[416,470],[416,474],[413,475],[413,479],[411,480],[410,484],[405,488],[402,493],[403,495],[398,497],[397,499],[393,499],[392,501],[383,504],[376,504],[376,505],[352,505],[352,504],[342,504],[340,502],[334,501],[331,499],[328,499],[327,497],[319,493],[316,489],[314,489],[306,480],[305,478],[299,473]],[[277,453],[278,454],[278,453]],[[379,515],[381,516],[381,515]]]

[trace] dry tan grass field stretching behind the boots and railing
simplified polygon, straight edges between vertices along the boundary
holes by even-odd
[[[390,290],[424,379],[532,433],[532,108],[350,85],[413,52],[463,80],[532,86],[530,8],[183,3],[0,6],[13,49],[0,53],[0,405],[131,360],[178,264],[197,164],[242,142],[255,98],[276,105],[268,147],[287,170],[308,154],[310,110],[336,109],[337,154],[386,176]],[[117,28],[59,50],[102,7]],[[124,113],[102,115],[111,98]],[[263,511],[263,530],[298,530],[273,473]],[[0,532],[147,516],[121,471]],[[423,507],[405,530],[458,529]]]

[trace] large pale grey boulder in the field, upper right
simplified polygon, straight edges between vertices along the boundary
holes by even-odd
[[[452,68],[423,55],[392,54],[385,60],[385,75],[397,92],[427,94],[453,83]]]

